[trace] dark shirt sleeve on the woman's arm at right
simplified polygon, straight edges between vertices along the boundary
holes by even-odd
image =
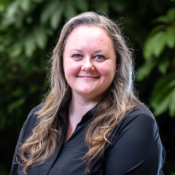
[[[145,114],[126,119],[107,154],[105,175],[163,175],[162,152],[155,120]]]

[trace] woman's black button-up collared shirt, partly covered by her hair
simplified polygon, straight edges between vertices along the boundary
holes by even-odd
[[[41,108],[35,107],[28,115],[21,130],[16,146],[10,175],[24,175],[23,167],[17,164],[19,148],[32,134],[38,124],[37,114]],[[28,175],[87,175],[85,162],[82,160],[88,151],[85,134],[88,124],[93,120],[97,105],[88,111],[74,133],[64,143],[67,129],[68,105],[58,113],[62,121],[62,140],[54,154],[39,166],[30,167]],[[162,166],[165,151],[159,136],[157,123],[152,113],[143,105],[135,107],[117,125],[106,143],[102,155],[90,164],[92,175],[163,175]]]

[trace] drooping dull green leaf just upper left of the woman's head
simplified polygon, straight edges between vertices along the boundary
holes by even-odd
[[[57,7],[57,10],[55,10],[53,12],[53,14],[51,15],[51,21],[50,21],[50,24],[51,24],[51,27],[53,29],[57,29],[58,28],[58,25],[60,24],[61,22],[61,19],[62,19],[62,14],[63,14],[63,11],[64,11],[64,3],[59,3],[58,7]]]

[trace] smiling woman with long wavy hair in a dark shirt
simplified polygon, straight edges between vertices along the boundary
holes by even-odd
[[[70,19],[53,51],[51,90],[28,115],[11,175],[162,175],[152,113],[133,92],[117,25],[94,12]]]

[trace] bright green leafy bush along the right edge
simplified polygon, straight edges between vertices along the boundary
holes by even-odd
[[[158,69],[160,74],[159,78],[152,82],[154,89],[150,105],[156,116],[168,109],[170,116],[175,116],[175,8],[153,22],[158,25],[145,41],[145,63],[138,70],[137,80],[142,81],[151,75],[153,69]]]

